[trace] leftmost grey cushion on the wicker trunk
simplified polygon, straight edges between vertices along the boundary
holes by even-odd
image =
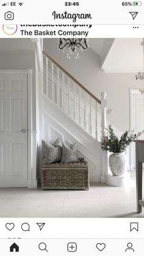
[[[59,163],[62,158],[62,141],[57,139],[53,144],[42,140],[43,164]]]

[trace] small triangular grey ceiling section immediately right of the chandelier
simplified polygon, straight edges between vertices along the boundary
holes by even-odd
[[[101,55],[104,47],[104,43],[106,42],[106,38],[88,38],[88,44],[90,48],[95,51],[99,56]]]

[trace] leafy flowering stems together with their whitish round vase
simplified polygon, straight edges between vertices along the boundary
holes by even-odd
[[[112,125],[106,128],[106,133],[101,141],[101,148],[112,152],[112,155],[109,156],[109,166],[113,175],[123,175],[127,170],[127,157],[124,152],[129,144],[137,140],[142,133],[143,131],[138,134],[135,134],[134,131],[125,131],[120,139],[118,139],[113,131]]]

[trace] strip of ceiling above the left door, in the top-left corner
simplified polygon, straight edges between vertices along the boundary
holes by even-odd
[[[34,43],[29,38],[1,38],[0,51],[31,51]]]

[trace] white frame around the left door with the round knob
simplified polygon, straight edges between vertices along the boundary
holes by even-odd
[[[0,74],[27,75],[27,188],[37,188],[36,170],[33,169],[36,161],[35,139],[36,132],[32,131],[32,69],[27,70],[0,70]]]

